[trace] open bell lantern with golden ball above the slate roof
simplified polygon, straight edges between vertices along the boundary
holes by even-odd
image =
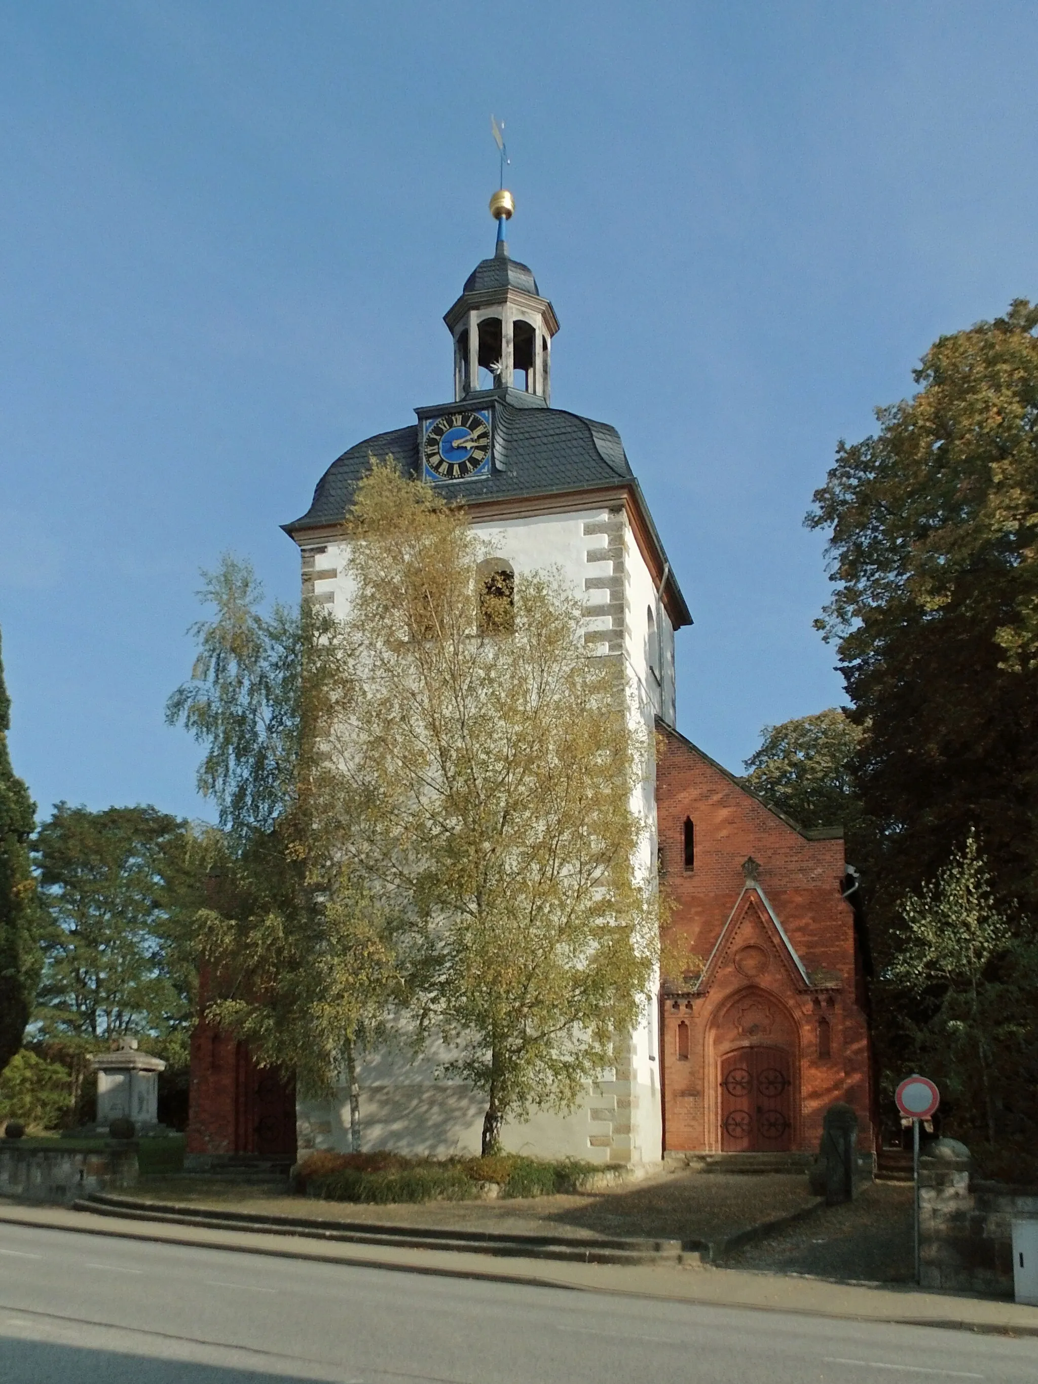
[[[454,338],[455,400],[515,389],[551,401],[551,339],[559,322],[533,271],[508,253],[505,224],[513,210],[505,188],[490,198],[494,256],[480,260],[443,318]]]

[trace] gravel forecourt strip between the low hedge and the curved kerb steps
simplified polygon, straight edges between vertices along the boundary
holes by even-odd
[[[814,1204],[801,1175],[663,1174],[609,1192],[505,1201],[426,1201],[358,1205],[285,1196],[281,1187],[234,1186],[201,1176],[145,1178],[131,1193],[159,1201],[306,1215],[329,1221],[497,1230],[508,1235],[650,1236],[725,1240],[763,1221]]]

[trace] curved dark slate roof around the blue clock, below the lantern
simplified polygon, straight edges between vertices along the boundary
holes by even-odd
[[[486,407],[489,403],[494,411],[494,469],[482,479],[444,486],[466,504],[606,489],[634,480],[620,435],[609,424],[548,408],[537,396],[513,389],[469,394],[464,404],[454,407]],[[436,411],[450,407],[446,404]],[[307,512],[285,525],[285,530],[295,533],[340,523],[370,458],[383,459],[388,454],[406,475],[419,475],[418,425],[375,433],[345,451],[317,482]]]

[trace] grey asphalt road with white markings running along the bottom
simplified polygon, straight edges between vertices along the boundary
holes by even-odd
[[[1038,1340],[0,1225],[3,1384],[898,1378],[1035,1384]]]

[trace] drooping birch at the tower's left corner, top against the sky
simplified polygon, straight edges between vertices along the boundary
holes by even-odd
[[[350,1086],[361,1145],[357,1053],[401,996],[393,920],[349,869],[350,803],[322,745],[352,674],[334,617],[303,603],[263,610],[248,563],[205,573],[212,620],[194,626],[192,677],[167,718],[205,745],[201,792],[217,804],[212,907],[201,915],[217,977],[209,1017],[306,1095]]]

